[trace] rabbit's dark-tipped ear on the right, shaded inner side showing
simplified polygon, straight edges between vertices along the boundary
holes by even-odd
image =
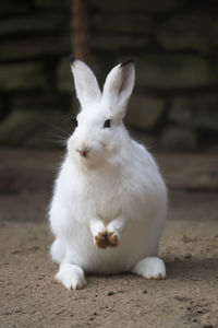
[[[109,102],[118,110],[124,110],[132,94],[134,83],[135,66],[133,60],[130,59],[116,66],[108,74],[104,85],[104,101]]]

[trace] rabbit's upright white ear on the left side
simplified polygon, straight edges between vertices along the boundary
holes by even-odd
[[[98,102],[101,92],[93,71],[81,60],[70,57],[71,70],[74,77],[75,91],[82,108]]]

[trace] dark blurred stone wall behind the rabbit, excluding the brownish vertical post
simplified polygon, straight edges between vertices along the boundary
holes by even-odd
[[[56,147],[77,110],[69,0],[0,2],[0,143]],[[153,149],[217,151],[218,2],[88,0],[92,67],[134,58],[126,124]]]

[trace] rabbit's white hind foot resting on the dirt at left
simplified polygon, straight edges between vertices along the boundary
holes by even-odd
[[[86,280],[83,269],[71,263],[63,263],[60,266],[56,279],[61,282],[66,290],[81,290],[86,285]]]

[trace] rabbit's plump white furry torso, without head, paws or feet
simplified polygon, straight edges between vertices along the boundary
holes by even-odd
[[[87,272],[118,273],[157,255],[166,218],[166,188],[147,151],[131,140],[130,144],[131,152],[128,150],[118,167],[106,165],[88,175],[65,159],[51,208],[51,227],[58,239],[52,248],[56,261],[68,258]],[[98,215],[107,224],[120,212],[126,229],[119,247],[97,248],[89,219]]]

